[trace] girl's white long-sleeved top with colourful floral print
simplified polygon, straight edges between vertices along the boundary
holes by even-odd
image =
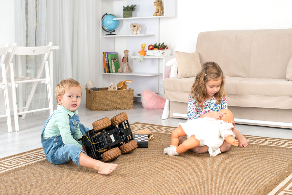
[[[199,118],[199,116],[206,114],[208,112],[219,112],[221,109],[227,109],[227,100],[224,97],[221,100],[220,104],[216,103],[216,98],[213,96],[212,99],[204,101],[203,109],[197,106],[197,100],[193,95],[189,96],[189,101],[187,104],[187,121],[195,118]]]

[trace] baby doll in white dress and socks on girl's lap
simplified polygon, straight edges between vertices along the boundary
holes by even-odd
[[[228,144],[238,146],[239,142],[234,139],[235,135],[231,130],[234,120],[232,112],[228,109],[221,109],[219,112],[223,113],[220,120],[204,117],[180,123],[180,126],[171,133],[170,146],[165,148],[163,152],[174,156],[188,149],[207,145],[210,156],[216,156],[221,153],[219,147],[224,140]],[[188,139],[178,146],[178,137],[181,136],[187,136]]]

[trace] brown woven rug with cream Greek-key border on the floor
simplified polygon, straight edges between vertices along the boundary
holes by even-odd
[[[248,147],[210,157],[187,151],[168,156],[175,127],[134,123],[154,139],[112,161],[110,175],[53,165],[41,148],[0,159],[0,194],[292,194],[292,140],[245,136]]]

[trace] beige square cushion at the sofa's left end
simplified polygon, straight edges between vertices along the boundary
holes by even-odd
[[[175,51],[174,54],[178,64],[178,78],[196,77],[201,72],[199,53]]]

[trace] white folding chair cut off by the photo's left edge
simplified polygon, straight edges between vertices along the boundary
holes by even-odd
[[[2,79],[0,80],[0,88],[4,89],[4,102],[5,102],[5,109],[6,109],[6,114],[5,115],[0,115],[0,118],[6,117],[7,118],[7,127],[8,127],[8,132],[12,132],[11,128],[11,118],[10,118],[10,108],[9,108],[9,101],[8,101],[8,90],[7,90],[7,78],[6,78],[6,68],[4,64],[4,60],[7,54],[7,51],[9,49],[9,43],[6,43],[5,47],[0,48],[0,68],[2,70]]]

